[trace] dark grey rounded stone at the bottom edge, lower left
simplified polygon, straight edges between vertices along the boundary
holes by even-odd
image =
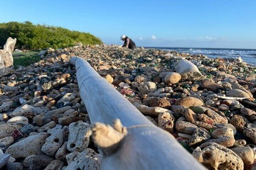
[[[24,167],[28,169],[44,169],[54,158],[48,155],[30,155],[23,161]]]

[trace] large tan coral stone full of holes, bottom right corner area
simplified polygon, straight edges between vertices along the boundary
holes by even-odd
[[[213,142],[201,144],[192,155],[208,169],[242,170],[244,168],[243,160],[235,152]]]

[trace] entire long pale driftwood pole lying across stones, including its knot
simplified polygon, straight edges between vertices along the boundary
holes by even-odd
[[[171,134],[152,124],[87,61],[73,57],[70,63],[76,66],[80,97],[91,123],[95,123],[93,139],[102,148],[101,169],[205,169]],[[107,125],[113,120],[113,127]]]

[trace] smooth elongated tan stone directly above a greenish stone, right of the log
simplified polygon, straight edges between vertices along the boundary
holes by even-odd
[[[204,103],[198,98],[185,97],[185,98],[180,98],[180,100],[176,100],[175,105],[191,107],[191,106],[202,106],[204,105]]]

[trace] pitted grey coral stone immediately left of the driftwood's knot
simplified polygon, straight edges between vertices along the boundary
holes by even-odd
[[[92,135],[91,125],[78,121],[69,124],[68,131],[68,151],[84,151],[88,147]]]

